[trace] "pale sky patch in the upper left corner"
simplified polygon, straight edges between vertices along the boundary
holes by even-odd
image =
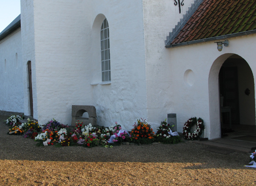
[[[20,0],[0,0],[0,33],[20,14]]]

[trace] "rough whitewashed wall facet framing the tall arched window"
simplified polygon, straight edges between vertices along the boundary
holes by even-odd
[[[91,1],[91,87],[97,121],[104,126],[118,122],[132,129],[147,118],[145,41],[142,1]],[[101,83],[100,40],[102,21],[110,36],[111,83]],[[95,35],[95,33],[97,33]]]

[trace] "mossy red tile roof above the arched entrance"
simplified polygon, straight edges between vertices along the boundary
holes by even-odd
[[[167,45],[256,30],[256,0],[204,0],[180,29]]]

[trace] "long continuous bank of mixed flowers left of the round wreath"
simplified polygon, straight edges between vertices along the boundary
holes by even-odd
[[[171,127],[166,120],[161,123],[157,135],[153,132],[151,125],[145,119],[137,120],[131,131],[122,129],[121,125],[115,122],[115,126],[92,126],[84,125],[79,120],[74,127],[69,127],[52,119],[45,125],[39,125],[37,121],[28,119],[26,123],[19,123],[18,116],[13,116],[6,120],[10,126],[9,133],[24,134],[25,138],[32,138],[39,146],[105,146],[112,147],[123,142],[149,144],[154,141],[164,143],[180,142],[179,136],[173,136]],[[10,124],[12,123],[12,124]],[[13,126],[14,125],[14,126]],[[176,132],[177,133],[177,132]],[[177,133],[178,134],[178,133]]]

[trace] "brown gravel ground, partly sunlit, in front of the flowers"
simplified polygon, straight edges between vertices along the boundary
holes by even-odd
[[[216,153],[209,146],[120,145],[113,148],[36,146],[8,135],[10,115],[0,111],[0,185],[249,185],[249,153]]]

